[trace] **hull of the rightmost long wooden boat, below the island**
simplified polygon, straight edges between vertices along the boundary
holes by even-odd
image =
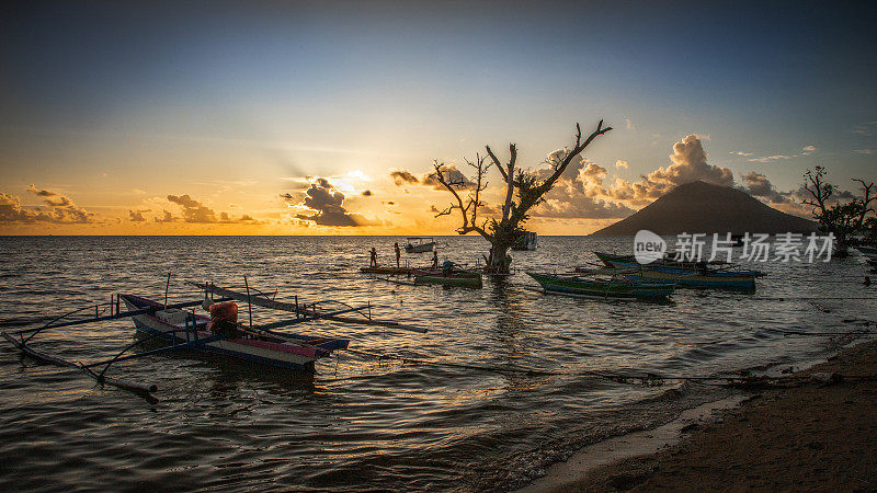
[[[672,283],[686,288],[729,288],[755,289],[755,278],[760,273],[754,272],[711,272],[706,275],[698,274],[692,268],[674,267],[659,263],[641,265],[625,256],[597,253],[596,256],[607,266],[619,270],[635,270],[625,273],[630,280],[645,283]]]

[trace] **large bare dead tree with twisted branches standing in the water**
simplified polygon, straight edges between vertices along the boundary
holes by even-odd
[[[601,119],[596,129],[582,139],[581,127],[576,124],[576,144],[571,149],[565,149],[558,159],[550,161],[551,174],[547,179],[540,179],[532,170],[517,168],[517,147],[514,144],[509,146],[509,161],[505,164],[500,162],[490,146],[485,147],[487,156],[476,154],[475,162],[466,160],[475,169],[474,181],[468,181],[463,174],[452,175],[444,163],[436,161],[433,164],[435,171],[430,176],[451,192],[454,202],[435,217],[449,215],[454,209],[459,210],[463,223],[457,228],[457,233],[477,232],[490,242],[486,270],[496,274],[508,274],[512,262],[509,250],[523,232],[521,226],[529,218],[527,214],[529,209],[545,200],[545,194],[554,187],[576,157],[581,154],[595,138],[610,130],[612,127],[604,128]],[[485,164],[487,158],[490,158],[490,162]],[[499,220],[490,217],[481,221],[478,218],[478,209],[485,206],[481,193],[487,190],[488,182],[485,177],[491,165],[496,165],[502,175],[505,183],[505,198]],[[460,195],[464,190],[467,191],[465,197]]]

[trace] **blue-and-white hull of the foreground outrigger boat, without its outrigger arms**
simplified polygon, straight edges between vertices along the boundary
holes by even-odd
[[[130,310],[159,305],[132,295],[122,295],[121,298]],[[194,340],[195,332],[198,339],[207,339],[214,335],[206,330],[208,319],[202,316],[195,317],[196,330],[192,331],[190,329],[187,334],[183,324],[169,323],[153,314],[139,314],[132,319],[137,332],[156,336],[167,343],[184,344],[191,342]],[[321,351],[319,346],[249,339],[214,341],[194,351],[250,364],[304,371],[314,371],[315,362],[328,355],[328,351]]]

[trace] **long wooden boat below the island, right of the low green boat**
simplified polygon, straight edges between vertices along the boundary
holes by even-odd
[[[755,289],[759,271],[744,271],[727,263],[675,262],[663,259],[639,264],[633,255],[594,252],[606,266],[625,271],[630,280],[672,283],[688,288]]]

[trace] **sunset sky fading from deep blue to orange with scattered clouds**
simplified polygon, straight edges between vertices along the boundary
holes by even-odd
[[[877,16],[852,5],[4,7],[0,233],[451,234],[433,160],[515,142],[539,168],[601,118],[531,229],[698,179],[805,214],[806,169],[877,177]]]

